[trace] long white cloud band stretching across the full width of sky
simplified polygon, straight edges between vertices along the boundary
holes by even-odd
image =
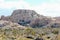
[[[4,0],[0,0],[0,8],[31,9],[46,16],[60,16],[60,3],[42,3],[37,6],[31,6],[23,0],[19,2],[5,2]]]

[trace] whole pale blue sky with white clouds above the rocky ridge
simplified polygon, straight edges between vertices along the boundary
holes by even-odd
[[[0,0],[0,16],[11,15],[13,10],[29,9],[40,15],[60,16],[60,0]]]

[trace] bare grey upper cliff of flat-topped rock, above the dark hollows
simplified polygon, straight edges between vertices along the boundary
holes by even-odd
[[[33,10],[14,10],[10,17],[15,20],[14,22],[19,20],[31,21],[37,18],[38,14]]]

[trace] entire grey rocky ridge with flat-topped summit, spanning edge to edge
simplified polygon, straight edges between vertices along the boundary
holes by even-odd
[[[58,19],[59,18],[51,18],[40,15],[34,10],[25,9],[14,10],[11,16],[1,16],[1,20],[11,21],[22,26],[31,26],[34,28],[45,26],[55,27],[56,25],[60,24],[60,21],[58,21]]]

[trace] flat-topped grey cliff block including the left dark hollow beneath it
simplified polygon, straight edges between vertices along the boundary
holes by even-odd
[[[18,24],[25,26],[38,17],[39,14],[33,10],[14,10],[10,19],[12,22],[17,22]]]

